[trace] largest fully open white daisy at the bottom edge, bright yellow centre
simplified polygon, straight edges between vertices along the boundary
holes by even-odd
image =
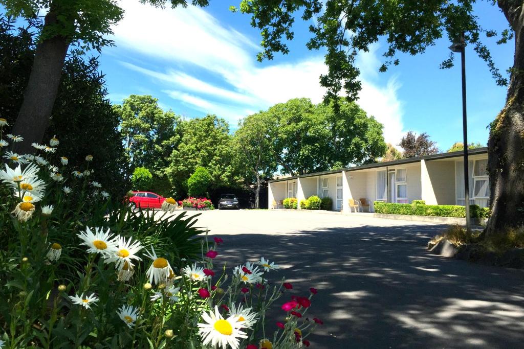
[[[204,323],[199,323],[198,327],[204,346],[211,344],[211,347],[219,346],[225,349],[230,345],[233,349],[238,349],[239,339],[247,338],[247,334],[241,331],[244,329],[243,323],[233,316],[224,319],[219,312],[219,307],[215,306],[214,312],[204,311],[202,320]]]

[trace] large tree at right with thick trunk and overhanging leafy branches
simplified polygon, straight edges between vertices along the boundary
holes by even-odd
[[[524,223],[524,176],[521,175],[524,167],[524,6],[521,0],[492,1],[504,13],[509,25],[497,33],[479,25],[474,3],[475,0],[243,0],[239,10],[251,14],[251,25],[260,29],[263,48],[258,54],[260,61],[272,59],[275,52],[289,52],[285,40],[293,38],[295,12],[300,10],[301,18],[306,21],[315,16],[315,25],[310,26],[313,37],[307,47],[327,50],[328,73],[320,77],[320,83],[328,88],[326,97],[332,99],[338,97],[342,88],[348,98],[357,98],[362,87],[358,80],[357,55],[368,51],[379,39],[385,39],[388,44],[385,62],[380,67],[380,71],[386,71],[389,66],[400,63],[397,52],[415,55],[433,46],[443,35],[452,42],[463,36],[464,42],[473,46],[478,56],[487,62],[501,86],[508,85],[508,80],[497,69],[482,42],[483,36],[498,37],[497,44],[513,41],[515,55],[509,70],[506,105],[491,123],[488,141],[492,214],[486,234],[505,234],[506,228]],[[450,68],[453,59],[454,54],[450,53],[441,67]]]

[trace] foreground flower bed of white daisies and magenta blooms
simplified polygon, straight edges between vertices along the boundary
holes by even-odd
[[[1,138],[0,128],[7,147]],[[200,231],[183,213],[155,218],[113,202],[89,179],[91,155],[83,171],[62,175],[68,160],[54,155],[58,143],[3,155],[0,347],[309,346],[322,324],[304,316],[314,288],[290,296],[285,320],[267,324],[269,307],[293,289],[270,282],[278,265],[261,258],[229,275],[215,268],[222,239],[195,239]]]

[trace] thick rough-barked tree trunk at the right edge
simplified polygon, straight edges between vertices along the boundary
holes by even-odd
[[[499,0],[515,31],[515,61],[508,95],[489,133],[488,170],[490,206],[486,236],[504,234],[524,224],[524,6]]]

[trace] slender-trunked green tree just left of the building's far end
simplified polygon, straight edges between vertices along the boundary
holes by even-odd
[[[255,194],[255,208],[260,208],[260,186],[277,171],[274,156],[276,125],[265,112],[249,115],[238,123],[235,153],[244,185]],[[255,187],[252,187],[252,183]]]

